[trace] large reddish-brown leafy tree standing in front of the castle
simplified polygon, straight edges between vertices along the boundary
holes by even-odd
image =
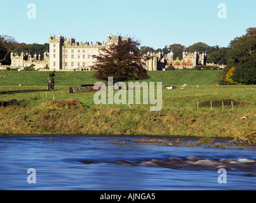
[[[113,77],[114,83],[149,79],[144,69],[147,56],[138,46],[138,41],[128,38],[100,48],[99,55],[93,55],[96,59],[93,77],[99,81],[108,81],[108,77]]]

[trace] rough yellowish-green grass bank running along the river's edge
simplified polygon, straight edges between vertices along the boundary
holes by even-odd
[[[249,115],[243,118],[241,115]],[[210,108],[84,107],[79,100],[60,100],[37,107],[21,105],[0,112],[0,134],[76,134],[234,138],[256,143],[255,111]],[[247,139],[247,140],[246,140]]]

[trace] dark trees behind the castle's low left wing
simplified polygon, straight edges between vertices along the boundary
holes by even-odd
[[[25,44],[18,43],[15,38],[11,36],[0,35],[0,63],[2,65],[10,65],[11,64],[11,53],[17,53],[20,55],[23,53],[30,53],[34,55],[41,55],[43,59],[43,54],[45,51],[49,51],[49,44]]]

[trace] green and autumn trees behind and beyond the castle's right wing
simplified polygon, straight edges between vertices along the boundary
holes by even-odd
[[[164,54],[170,53],[172,50],[174,58],[179,57],[179,59],[182,58],[184,51],[206,51],[206,63],[226,65],[219,84],[256,84],[256,27],[247,29],[245,35],[236,37],[229,46],[223,48],[218,45],[208,46],[205,43],[196,43],[189,47],[182,44],[171,44],[170,46],[166,45],[163,49],[142,46],[140,50],[150,53],[163,51]],[[207,67],[201,68],[207,69]],[[201,68],[197,67],[199,70]]]

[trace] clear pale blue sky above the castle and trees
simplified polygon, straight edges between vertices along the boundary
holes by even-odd
[[[36,18],[27,18],[27,5],[36,5]],[[227,18],[218,18],[218,5]],[[256,26],[255,0],[1,0],[0,34],[19,43],[48,43],[49,34],[76,41],[106,41],[107,34],[138,39],[155,49],[179,43],[203,42],[226,47],[232,39]]]

